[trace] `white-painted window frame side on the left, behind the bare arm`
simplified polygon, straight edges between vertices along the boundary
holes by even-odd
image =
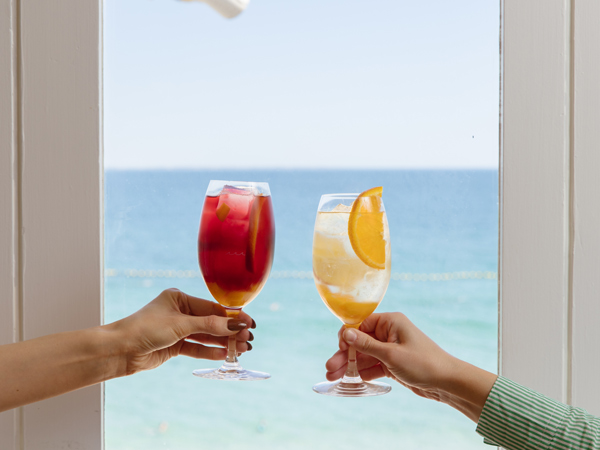
[[[0,343],[102,321],[101,32],[101,0],[0,0]],[[103,409],[1,413],[0,447],[101,449]]]

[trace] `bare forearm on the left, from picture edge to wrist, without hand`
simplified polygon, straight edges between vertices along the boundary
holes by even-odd
[[[0,411],[118,376],[108,327],[58,333],[0,346]]]

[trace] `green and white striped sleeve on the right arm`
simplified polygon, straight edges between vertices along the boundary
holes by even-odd
[[[600,449],[600,418],[498,377],[479,417],[486,444],[508,450]]]

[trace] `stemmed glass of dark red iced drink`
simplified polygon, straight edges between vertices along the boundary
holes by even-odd
[[[208,290],[237,317],[261,291],[273,262],[275,221],[268,183],[211,180],[206,191],[198,261]],[[193,374],[216,380],[265,380],[271,375],[242,368],[235,335],[229,337],[227,359],[218,369]]]

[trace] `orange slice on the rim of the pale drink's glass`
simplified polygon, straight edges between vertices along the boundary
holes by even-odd
[[[380,186],[356,197],[348,219],[348,237],[354,253],[374,269],[385,269],[382,192],[383,187]]]

